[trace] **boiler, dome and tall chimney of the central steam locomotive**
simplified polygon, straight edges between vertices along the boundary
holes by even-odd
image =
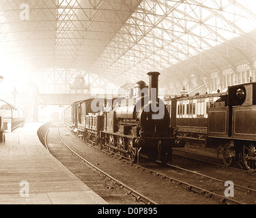
[[[158,76],[158,72],[150,72],[153,76]],[[155,89],[154,94],[144,81],[134,84],[134,95],[127,95],[119,106],[115,109],[117,118],[116,131],[121,134],[129,134],[132,131],[134,136],[153,137],[166,133],[169,127],[169,112],[160,99],[157,97],[156,82],[150,84],[150,89]],[[154,95],[154,96],[152,96]],[[130,98],[128,98],[130,97]],[[126,125],[124,125],[126,123]],[[131,131],[130,131],[131,130]]]

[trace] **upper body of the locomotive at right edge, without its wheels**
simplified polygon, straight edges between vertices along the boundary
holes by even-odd
[[[228,87],[227,96],[223,95],[214,105],[215,108],[208,111],[208,136],[255,137],[256,116],[252,115],[256,112],[255,82]]]

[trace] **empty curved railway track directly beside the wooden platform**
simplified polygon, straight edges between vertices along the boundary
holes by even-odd
[[[51,131],[48,129],[44,137],[46,149],[109,204],[157,204],[94,166],[68,146],[60,136],[58,139],[55,134],[49,136]],[[57,131],[59,135],[59,129]],[[49,143],[49,140],[55,143]]]

